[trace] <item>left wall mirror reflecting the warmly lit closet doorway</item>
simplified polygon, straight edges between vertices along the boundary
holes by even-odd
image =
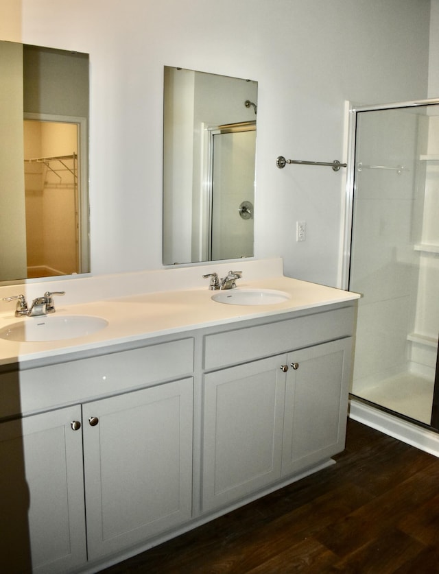
[[[0,281],[90,271],[88,55],[0,41]]]

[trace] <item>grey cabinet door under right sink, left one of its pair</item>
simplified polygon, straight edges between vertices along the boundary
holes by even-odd
[[[281,476],[286,355],[204,376],[202,510]]]

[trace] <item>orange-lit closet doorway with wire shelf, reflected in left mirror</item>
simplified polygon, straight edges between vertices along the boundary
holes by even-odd
[[[27,277],[80,272],[78,123],[24,121]]]

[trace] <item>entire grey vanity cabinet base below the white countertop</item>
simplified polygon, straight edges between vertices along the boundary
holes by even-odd
[[[98,571],[330,464],[354,320],[329,304],[2,370],[1,566]]]

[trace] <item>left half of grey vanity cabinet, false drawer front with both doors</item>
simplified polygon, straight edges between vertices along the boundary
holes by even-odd
[[[81,571],[190,520],[188,372],[191,338],[0,374],[0,566]]]

